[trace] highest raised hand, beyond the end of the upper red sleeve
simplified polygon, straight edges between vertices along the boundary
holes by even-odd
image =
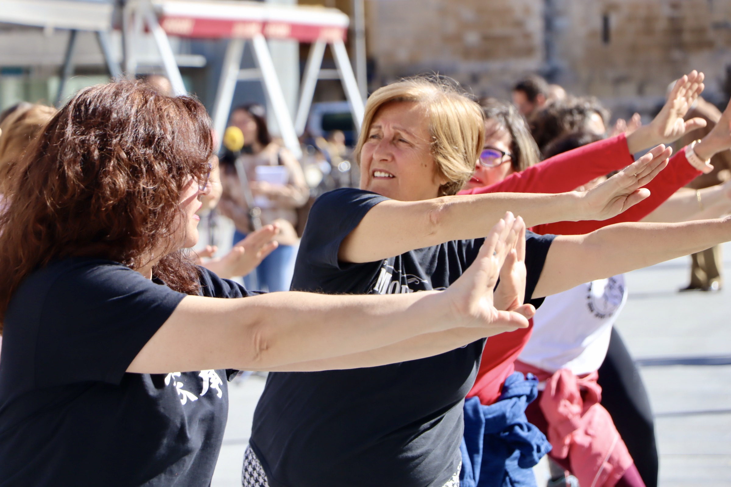
[[[629,151],[635,153],[653,145],[669,144],[690,131],[705,127],[702,118],[683,120],[705,88],[704,79],[703,73],[693,70],[676,81],[656,117],[627,136]]]

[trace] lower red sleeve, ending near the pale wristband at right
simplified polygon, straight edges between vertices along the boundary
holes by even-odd
[[[531,230],[537,234],[556,235],[583,235],[613,223],[626,221],[640,221],[665,202],[675,191],[690,183],[700,171],[691,166],[686,159],[685,150],[681,149],[670,158],[667,167],[660,172],[645,188],[650,190],[650,196],[643,202],[635,204],[624,213],[605,221],[559,221],[537,225]]]

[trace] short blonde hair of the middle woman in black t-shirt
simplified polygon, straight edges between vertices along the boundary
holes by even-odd
[[[456,194],[474,173],[485,142],[485,121],[480,105],[445,77],[406,78],[376,90],[366,103],[363,126],[355,147],[356,161],[368,140],[376,113],[395,101],[414,101],[424,107],[431,134],[431,155],[436,170],[447,183],[439,196]]]

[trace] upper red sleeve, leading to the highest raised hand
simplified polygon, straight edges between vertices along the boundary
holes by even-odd
[[[564,193],[574,191],[595,177],[624,169],[634,162],[624,134],[599,140],[516,172],[500,183],[460,191],[459,194],[484,193]]]

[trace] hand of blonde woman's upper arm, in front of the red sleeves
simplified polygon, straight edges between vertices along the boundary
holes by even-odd
[[[604,183],[584,191],[581,196],[583,219],[612,218],[650,196],[650,191],[643,186],[667,166],[671,153],[670,147],[658,145]]]

